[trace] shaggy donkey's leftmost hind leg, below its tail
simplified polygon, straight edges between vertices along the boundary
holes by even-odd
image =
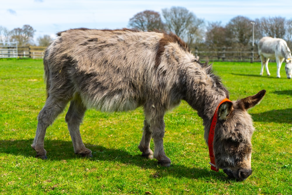
[[[67,105],[67,99],[55,98],[49,96],[46,100],[45,106],[41,109],[38,115],[38,124],[36,128],[36,135],[32,143],[32,148],[36,151],[36,158],[46,159],[46,150],[44,149],[44,139],[46,129],[52,125],[55,118],[64,110]]]

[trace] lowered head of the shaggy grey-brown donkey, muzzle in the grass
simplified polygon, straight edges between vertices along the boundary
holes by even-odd
[[[253,123],[247,110],[265,95],[265,90],[218,108],[218,121],[213,141],[217,168],[232,178],[245,180],[251,175],[251,136]]]

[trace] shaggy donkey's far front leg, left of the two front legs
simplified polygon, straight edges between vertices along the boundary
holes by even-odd
[[[150,149],[150,140],[151,140],[150,125],[147,123],[147,120],[144,120],[143,135],[138,148],[142,152],[142,157],[152,159],[153,152]]]

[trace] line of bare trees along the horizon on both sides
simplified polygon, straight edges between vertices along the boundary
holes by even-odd
[[[182,38],[192,50],[195,47],[250,47],[254,33],[255,44],[264,37],[277,37],[286,40],[292,47],[292,18],[257,18],[236,16],[226,25],[221,22],[206,23],[203,19],[184,7],[171,7],[161,10],[162,16],[151,10],[135,14],[129,19],[128,27],[141,31],[160,30],[173,32]],[[254,25],[254,30],[253,30]],[[35,30],[30,25],[8,31],[0,26],[0,42],[14,41],[19,46],[33,45]],[[52,38],[49,35],[37,38],[39,46],[47,46]],[[291,48],[292,49],[292,48]]]

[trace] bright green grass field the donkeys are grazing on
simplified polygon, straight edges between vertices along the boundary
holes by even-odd
[[[91,159],[74,154],[64,112],[47,129],[48,159],[34,158],[30,144],[46,99],[42,61],[0,60],[0,194],[292,194],[292,80],[284,67],[280,79],[275,63],[270,77],[259,76],[260,63],[215,62],[213,68],[231,100],[267,90],[249,110],[256,128],[253,174],[243,182],[210,170],[202,120],[184,101],[165,115],[169,168],[140,157],[142,108],[88,110],[81,135]]]

